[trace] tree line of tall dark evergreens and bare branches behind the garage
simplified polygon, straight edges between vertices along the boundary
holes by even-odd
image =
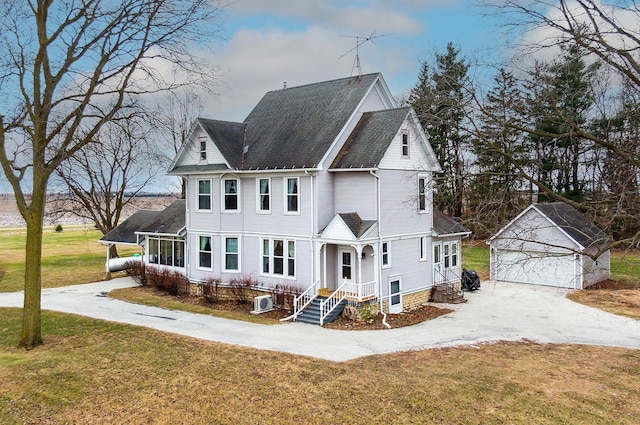
[[[407,103],[443,166],[436,207],[482,238],[531,202],[563,201],[605,229],[611,246],[637,247],[640,34],[624,22],[640,11],[597,1],[485,6],[547,33],[483,86],[452,43],[423,62]]]

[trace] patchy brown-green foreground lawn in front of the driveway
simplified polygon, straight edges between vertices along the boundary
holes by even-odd
[[[332,363],[45,312],[46,344],[25,352],[11,337],[19,321],[19,310],[0,309],[6,424],[632,424],[640,417],[638,350],[504,343]]]

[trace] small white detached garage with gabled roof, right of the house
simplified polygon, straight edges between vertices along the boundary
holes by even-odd
[[[608,242],[604,231],[564,202],[533,204],[487,242],[491,278],[583,289],[609,278]]]

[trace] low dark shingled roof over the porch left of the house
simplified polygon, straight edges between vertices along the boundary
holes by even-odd
[[[177,235],[185,226],[186,204],[178,199],[162,211],[140,210],[100,238],[101,241],[135,244],[135,232]]]

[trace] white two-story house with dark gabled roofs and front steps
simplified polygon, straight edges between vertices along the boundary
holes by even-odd
[[[334,294],[327,309],[416,307],[459,276],[468,234],[442,215],[434,230],[440,171],[379,73],[271,91],[243,122],[196,120],[173,160],[187,181],[181,268],[195,283],[298,286],[299,309],[317,294]]]

